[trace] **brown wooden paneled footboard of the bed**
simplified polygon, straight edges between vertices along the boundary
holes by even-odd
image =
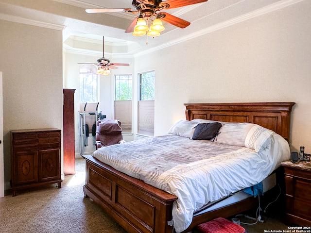
[[[129,233],[171,233],[173,201],[177,198],[94,159],[86,158],[83,191]]]

